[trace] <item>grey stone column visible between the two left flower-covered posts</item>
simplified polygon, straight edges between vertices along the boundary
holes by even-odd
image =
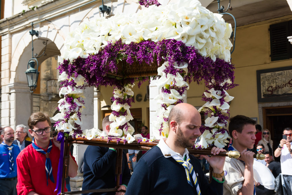
[[[94,125],[94,118],[93,118],[93,87],[86,87],[84,90],[84,96],[86,97],[84,100],[85,102],[85,109],[82,111],[82,120],[83,125],[81,125],[81,130],[85,129],[92,129]],[[83,182],[83,173],[80,173],[81,163],[83,161],[84,152],[87,148],[87,145],[82,144],[73,144],[73,156],[78,165],[78,174],[76,177],[71,178],[70,186],[71,190],[80,190],[82,187]]]

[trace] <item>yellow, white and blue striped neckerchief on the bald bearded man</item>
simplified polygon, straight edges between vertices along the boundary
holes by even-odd
[[[175,161],[180,163],[181,165],[183,165],[183,167],[185,168],[185,173],[187,175],[187,182],[193,187],[192,181],[190,179],[190,177],[192,176],[196,190],[197,190],[197,194],[201,195],[201,190],[199,187],[197,176],[196,176],[195,171],[193,169],[193,165],[190,163],[190,158],[187,156],[186,161],[181,160],[181,159],[175,159]]]

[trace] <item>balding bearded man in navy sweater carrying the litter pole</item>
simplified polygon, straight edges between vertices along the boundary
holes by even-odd
[[[224,149],[213,147],[214,156],[202,155],[213,167],[213,180],[208,183],[197,158],[186,148],[201,135],[201,115],[194,106],[179,103],[168,117],[168,138],[140,158],[128,184],[129,194],[223,194],[225,157],[215,156]]]

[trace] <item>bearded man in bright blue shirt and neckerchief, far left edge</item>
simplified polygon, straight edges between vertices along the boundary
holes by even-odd
[[[0,144],[0,194],[16,195],[17,167],[16,157],[20,153],[17,145],[12,144],[14,131],[5,127],[1,131],[3,142]]]

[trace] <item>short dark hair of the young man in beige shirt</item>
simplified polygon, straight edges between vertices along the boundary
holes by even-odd
[[[247,124],[256,125],[256,121],[244,115],[236,115],[230,118],[230,122],[228,126],[230,136],[232,137],[233,130],[241,133],[244,125],[247,125]]]

